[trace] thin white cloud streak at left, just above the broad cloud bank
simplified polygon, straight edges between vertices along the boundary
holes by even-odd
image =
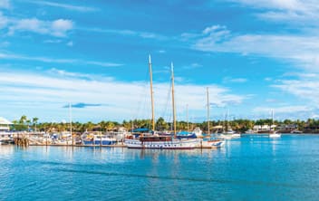
[[[69,63],[69,64],[87,64],[87,65],[98,65],[103,67],[118,67],[122,66],[121,63],[116,62],[96,62],[96,61],[84,61],[79,59],[53,59],[48,57],[31,57],[20,54],[9,54],[0,53],[0,59],[10,59],[10,60],[25,60],[25,61],[36,61],[36,62],[55,62],[55,63]]]

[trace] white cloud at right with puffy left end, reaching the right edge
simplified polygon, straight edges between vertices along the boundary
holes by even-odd
[[[210,26],[190,39],[193,42],[192,48],[203,52],[255,54],[283,62],[293,62],[298,67],[319,71],[319,55],[317,54],[319,43],[316,43],[319,41],[318,36],[232,34],[225,30],[224,26],[217,27],[219,28]]]

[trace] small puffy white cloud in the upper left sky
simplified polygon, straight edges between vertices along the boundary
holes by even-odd
[[[33,32],[36,34],[50,34],[55,37],[65,37],[73,29],[71,20],[58,19],[42,21],[36,18],[14,20],[9,27],[9,34],[14,32]]]

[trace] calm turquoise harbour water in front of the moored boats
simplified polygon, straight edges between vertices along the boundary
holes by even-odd
[[[218,150],[0,146],[0,200],[318,200],[319,136]]]

